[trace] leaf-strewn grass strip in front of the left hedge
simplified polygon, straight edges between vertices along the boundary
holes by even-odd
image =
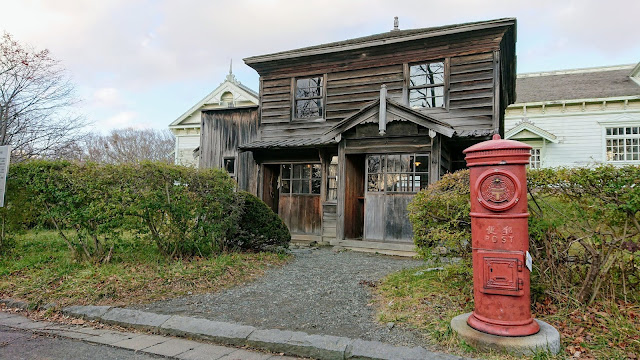
[[[10,250],[0,255],[0,298],[24,300],[33,307],[55,303],[57,308],[144,303],[244,283],[288,258],[229,253],[170,260],[153,244],[129,236],[108,264],[93,264],[74,260],[55,232],[29,231],[16,236]]]

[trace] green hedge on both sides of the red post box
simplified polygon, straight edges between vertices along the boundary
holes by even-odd
[[[637,297],[640,167],[531,170],[527,184],[530,251],[539,284],[534,290],[581,303],[602,294]],[[470,257],[469,208],[467,170],[421,191],[409,205],[419,254],[440,256],[437,250],[444,248]]]

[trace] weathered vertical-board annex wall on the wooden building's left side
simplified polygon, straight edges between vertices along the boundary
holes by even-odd
[[[239,151],[238,147],[257,139],[258,109],[204,111],[200,126],[200,167],[221,168],[224,158],[233,157],[236,159],[238,188],[256,194],[257,164],[253,153]]]

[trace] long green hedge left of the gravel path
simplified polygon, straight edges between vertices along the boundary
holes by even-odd
[[[259,203],[236,193],[220,169],[32,161],[11,166],[0,214],[6,234],[53,228],[77,257],[106,262],[124,231],[150,239],[168,257],[286,247],[286,227],[243,224],[247,213],[263,222],[277,219]]]

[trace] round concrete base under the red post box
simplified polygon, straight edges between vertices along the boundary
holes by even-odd
[[[548,351],[557,354],[560,351],[560,333],[544,321],[536,320],[540,325],[537,334],[529,336],[506,337],[478,331],[467,324],[471,313],[458,315],[451,320],[451,328],[461,339],[480,350],[505,351],[516,355],[533,355]]]

